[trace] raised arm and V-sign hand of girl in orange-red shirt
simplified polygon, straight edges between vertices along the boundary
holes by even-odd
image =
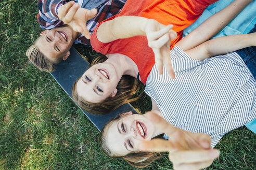
[[[96,33],[102,43],[138,35],[147,36],[148,46],[155,53],[159,74],[163,73],[164,64],[169,75],[174,79],[169,55],[170,41],[175,39],[177,34],[172,30],[172,25],[163,25],[156,20],[143,17],[123,16],[102,23]]]

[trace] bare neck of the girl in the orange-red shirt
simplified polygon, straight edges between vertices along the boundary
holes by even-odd
[[[137,78],[138,67],[136,63],[128,56],[119,53],[107,54],[106,56],[108,60],[106,60],[105,62],[113,64],[114,67],[117,68],[121,77],[123,75],[129,75]]]

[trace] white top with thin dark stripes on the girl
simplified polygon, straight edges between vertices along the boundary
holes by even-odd
[[[190,132],[211,136],[214,147],[227,132],[256,119],[256,82],[236,52],[204,61],[177,46],[170,52],[175,79],[153,66],[145,92],[163,118]]]

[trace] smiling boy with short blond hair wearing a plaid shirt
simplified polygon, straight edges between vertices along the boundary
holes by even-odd
[[[37,20],[45,31],[40,33],[41,36],[29,47],[26,55],[40,70],[53,72],[56,64],[68,58],[73,43],[89,45],[90,33],[97,24],[120,12],[124,3],[122,0],[80,0],[62,5],[61,0],[39,0]],[[77,10],[75,14],[68,10],[71,6]]]

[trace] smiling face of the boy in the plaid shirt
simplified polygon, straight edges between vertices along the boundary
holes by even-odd
[[[45,30],[37,38],[35,45],[53,63],[60,59],[66,60],[78,33],[74,32],[69,26],[56,27],[52,30]]]

